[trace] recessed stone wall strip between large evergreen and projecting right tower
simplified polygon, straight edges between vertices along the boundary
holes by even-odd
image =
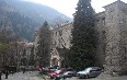
[[[96,45],[96,64],[102,66],[105,64],[105,12],[97,13],[95,18],[95,30],[99,39]]]

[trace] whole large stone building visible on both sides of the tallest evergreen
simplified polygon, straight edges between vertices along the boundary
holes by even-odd
[[[105,11],[95,14],[95,27],[99,36],[96,62],[111,73],[126,73],[127,3],[117,0],[105,5],[104,9]],[[71,24],[53,30],[51,65],[60,66],[61,57],[57,48],[70,47],[71,30]]]

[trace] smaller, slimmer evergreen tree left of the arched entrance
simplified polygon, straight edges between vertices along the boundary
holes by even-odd
[[[38,56],[41,57],[39,64],[43,67],[49,66],[49,53],[50,53],[50,39],[51,32],[48,23],[45,21],[43,26],[39,28],[39,41],[38,41]]]

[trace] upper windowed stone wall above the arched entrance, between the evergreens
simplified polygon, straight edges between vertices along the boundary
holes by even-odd
[[[60,25],[51,31],[53,45],[59,48],[69,48],[72,23]]]

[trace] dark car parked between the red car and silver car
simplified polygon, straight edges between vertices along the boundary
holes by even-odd
[[[71,77],[74,77],[76,76],[76,71],[66,71],[64,73],[60,73],[60,75],[57,75],[56,78],[57,79],[66,79],[66,78],[71,78]]]

